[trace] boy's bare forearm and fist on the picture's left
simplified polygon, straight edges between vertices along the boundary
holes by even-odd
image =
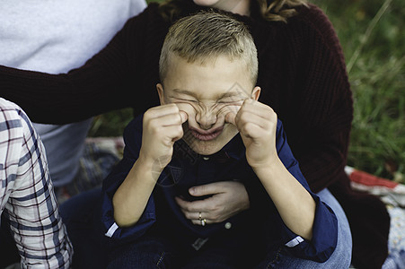
[[[171,161],[173,143],[182,135],[187,114],[175,104],[145,112],[139,158],[114,194],[114,219],[121,227],[136,224],[145,210],[154,185]]]

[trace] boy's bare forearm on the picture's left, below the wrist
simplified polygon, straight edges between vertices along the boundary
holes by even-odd
[[[114,194],[114,219],[120,227],[136,224],[144,213],[157,180],[153,167],[153,161],[140,157]]]

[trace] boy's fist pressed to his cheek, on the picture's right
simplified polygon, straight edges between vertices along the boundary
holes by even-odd
[[[272,108],[256,100],[244,100],[238,113],[228,113],[225,120],[238,128],[251,168],[269,167],[277,161],[277,114]]]

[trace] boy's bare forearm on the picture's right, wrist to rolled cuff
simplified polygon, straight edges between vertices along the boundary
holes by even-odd
[[[286,226],[304,239],[313,238],[316,203],[278,159],[254,169]]]

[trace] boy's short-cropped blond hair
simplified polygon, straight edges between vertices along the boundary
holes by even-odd
[[[230,61],[242,60],[251,82],[255,84],[257,80],[258,56],[251,33],[246,25],[227,14],[200,12],[172,24],[159,60],[161,82],[172,55],[201,65],[215,61],[218,56],[226,56]]]

